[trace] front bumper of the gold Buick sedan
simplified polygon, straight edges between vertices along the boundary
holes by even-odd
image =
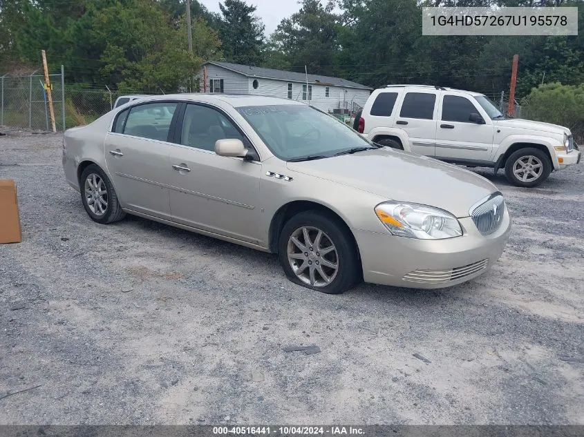
[[[353,229],[365,282],[417,289],[461,284],[489,271],[511,233],[505,211],[499,229],[481,235],[471,217],[459,219],[463,235],[446,240],[416,240]]]

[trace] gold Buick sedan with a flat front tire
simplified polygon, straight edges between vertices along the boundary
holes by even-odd
[[[133,100],[67,130],[63,168],[95,222],[128,213],[276,253],[290,280],[323,293],[460,284],[511,231],[484,177],[274,97]]]

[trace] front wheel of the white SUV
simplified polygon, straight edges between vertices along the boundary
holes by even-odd
[[[552,173],[552,162],[538,148],[520,148],[505,162],[505,176],[516,186],[533,188],[545,181],[549,173]]]

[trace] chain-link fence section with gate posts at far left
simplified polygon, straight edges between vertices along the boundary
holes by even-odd
[[[62,72],[49,75],[55,128],[64,130],[65,106]],[[0,77],[0,125],[51,130],[45,77],[38,70],[28,76]]]

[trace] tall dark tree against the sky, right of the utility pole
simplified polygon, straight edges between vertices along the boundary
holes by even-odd
[[[225,59],[236,64],[258,66],[261,64],[264,26],[254,15],[255,6],[242,0],[225,0],[219,3],[223,18],[219,37]]]

